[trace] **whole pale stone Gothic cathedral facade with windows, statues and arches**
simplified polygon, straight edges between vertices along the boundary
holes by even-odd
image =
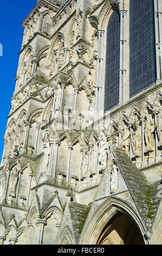
[[[0,167],[2,245],[162,244],[162,2],[38,0]]]

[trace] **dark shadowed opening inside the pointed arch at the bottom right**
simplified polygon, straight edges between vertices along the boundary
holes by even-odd
[[[97,245],[144,245],[137,225],[122,212],[117,212],[105,225]]]

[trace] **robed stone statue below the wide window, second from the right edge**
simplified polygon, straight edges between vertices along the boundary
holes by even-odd
[[[147,148],[153,148],[154,147],[154,121],[150,115],[146,116],[146,122],[145,122],[145,139]]]

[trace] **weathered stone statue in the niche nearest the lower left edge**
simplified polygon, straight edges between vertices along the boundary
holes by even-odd
[[[18,181],[18,169],[17,166],[11,170],[10,179],[9,179],[9,196],[16,196],[16,185]]]

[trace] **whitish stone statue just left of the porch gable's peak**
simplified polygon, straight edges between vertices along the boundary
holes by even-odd
[[[99,150],[99,163],[100,163],[100,170],[105,170],[106,161],[107,161],[107,149],[108,149],[108,142],[105,136],[101,136],[100,141],[100,150]]]

